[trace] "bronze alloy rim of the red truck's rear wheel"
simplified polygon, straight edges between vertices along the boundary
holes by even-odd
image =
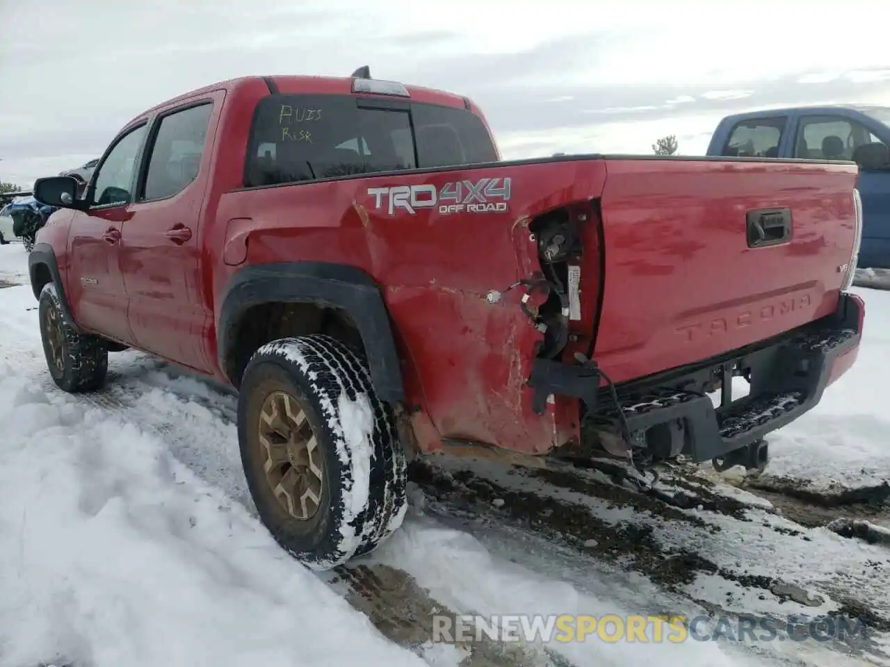
[[[263,401],[257,442],[266,482],[282,509],[306,521],[319,511],[325,462],[296,398],[275,390]]]

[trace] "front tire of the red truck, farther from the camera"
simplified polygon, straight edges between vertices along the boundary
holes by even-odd
[[[59,293],[53,283],[47,283],[41,290],[37,310],[46,366],[56,386],[72,394],[101,389],[109,366],[108,350],[101,338],[74,330],[65,317]],[[48,323],[53,313],[61,332],[61,368],[55,364],[50,340],[51,327]]]

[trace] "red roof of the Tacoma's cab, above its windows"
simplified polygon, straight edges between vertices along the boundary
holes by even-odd
[[[190,97],[200,95],[204,92],[212,92],[217,90],[232,91],[247,84],[255,84],[258,81],[263,82],[264,85],[268,85],[271,82],[272,84],[277,86],[279,92],[283,94],[295,94],[304,92],[320,95],[351,95],[352,82],[354,81],[354,78],[352,76],[303,75],[239,76],[238,78],[227,79],[225,81],[219,81],[215,84],[205,85],[201,88],[196,88],[194,90],[190,90],[189,92],[184,92],[182,93],[182,95],[177,95],[176,97],[169,100],[164,100],[163,102],[156,104],[154,107],[146,109],[138,116],[133,117],[127,123],[127,125],[130,125],[139,118],[150,115],[154,111],[158,110],[158,108],[167,107],[177,101],[186,100]],[[464,96],[457,95],[453,92],[434,90],[433,88],[425,88],[419,85],[405,85],[405,88],[408,90],[410,99],[412,101],[425,102],[427,104],[439,104],[446,107],[470,108],[473,111],[478,112],[478,109],[475,108],[471,100]],[[373,93],[362,92],[356,94]]]

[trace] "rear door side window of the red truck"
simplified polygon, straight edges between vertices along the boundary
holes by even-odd
[[[213,109],[202,104],[161,118],[141,199],[173,197],[198,178]]]

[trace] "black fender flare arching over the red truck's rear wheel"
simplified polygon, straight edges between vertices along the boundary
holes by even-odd
[[[263,303],[318,303],[343,309],[355,322],[368,356],[377,397],[395,404],[404,398],[399,355],[380,286],[358,267],[317,261],[259,264],[239,269],[226,286],[216,327],[217,356],[238,386],[231,354],[241,317]]]

